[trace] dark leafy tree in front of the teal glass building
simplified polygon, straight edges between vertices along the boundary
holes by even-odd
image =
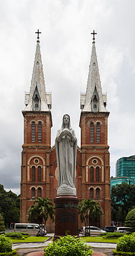
[[[124,223],[128,211],[135,204],[135,185],[117,184],[111,188],[111,219]]]

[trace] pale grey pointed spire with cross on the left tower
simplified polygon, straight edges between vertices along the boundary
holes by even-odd
[[[41,32],[39,32],[38,29],[38,31],[35,33],[37,33],[35,61],[33,66],[30,93],[25,94],[26,108],[24,111],[50,111],[51,95],[46,94],[45,91],[45,81],[43,77],[43,66],[39,45],[39,33]]]

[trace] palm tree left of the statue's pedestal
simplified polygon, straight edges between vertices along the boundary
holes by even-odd
[[[33,205],[28,209],[28,221],[37,221],[41,224],[41,235],[45,233],[45,225],[43,231],[43,221],[46,224],[47,218],[54,221],[54,205],[49,198],[37,197]]]

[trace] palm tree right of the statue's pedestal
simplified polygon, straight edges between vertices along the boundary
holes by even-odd
[[[102,214],[102,210],[100,208],[99,203],[91,199],[84,199],[79,203],[79,214],[81,218],[81,222],[85,223],[85,236],[90,235],[90,229],[88,232],[88,225],[90,226],[90,220],[94,221],[95,218],[100,218]],[[88,223],[89,221],[89,223]]]

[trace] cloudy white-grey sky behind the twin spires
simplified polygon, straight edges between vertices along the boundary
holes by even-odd
[[[107,92],[111,175],[135,154],[135,1],[0,0],[0,184],[20,193],[24,91],[29,91],[39,29],[46,91],[52,91],[52,145],[62,115],[71,115],[80,146],[80,92],[85,92],[92,35],[102,92]]]

